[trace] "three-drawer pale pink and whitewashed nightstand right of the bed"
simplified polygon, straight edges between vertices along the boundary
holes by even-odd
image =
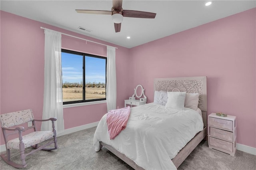
[[[208,144],[209,148],[220,150],[231,156],[236,153],[236,117],[208,116]]]

